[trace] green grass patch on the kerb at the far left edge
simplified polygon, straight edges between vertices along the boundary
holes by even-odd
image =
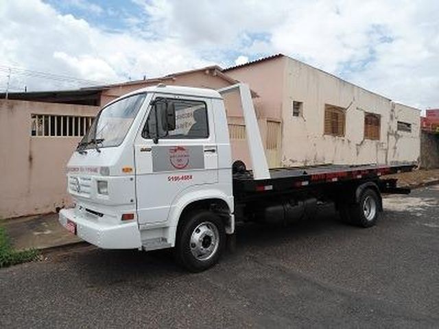
[[[36,249],[14,250],[5,228],[0,226],[0,268],[30,262],[35,260],[38,254]]]

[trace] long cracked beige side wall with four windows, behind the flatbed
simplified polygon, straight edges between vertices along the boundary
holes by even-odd
[[[282,164],[392,164],[419,157],[420,112],[355,86],[334,75],[287,58],[283,98]],[[292,116],[292,101],[303,103]],[[345,136],[324,134],[325,104],[346,109]],[[378,141],[364,138],[364,116],[379,114]],[[396,130],[400,118],[412,132]],[[417,146],[416,146],[417,145]]]

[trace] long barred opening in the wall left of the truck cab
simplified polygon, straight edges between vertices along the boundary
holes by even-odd
[[[94,117],[31,114],[31,136],[84,136]]]

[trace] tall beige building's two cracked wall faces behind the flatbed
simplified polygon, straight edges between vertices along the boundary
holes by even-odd
[[[416,162],[420,152],[420,112],[341,80],[287,56],[277,56],[226,73],[247,82],[258,93],[257,114],[266,123],[279,122],[277,162],[282,167],[307,164],[393,164]],[[292,102],[302,102],[299,117]],[[324,134],[325,104],[346,109],[345,135]],[[378,141],[364,138],[365,113],[379,114]],[[396,130],[397,121],[412,124],[412,132]],[[273,125],[271,125],[273,127]],[[269,134],[270,135],[270,134]],[[264,136],[265,148],[270,138]]]

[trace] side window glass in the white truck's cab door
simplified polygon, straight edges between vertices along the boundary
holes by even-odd
[[[175,129],[165,131],[166,125],[163,122],[166,119],[165,111],[169,104],[175,108],[176,124]],[[156,118],[157,113],[157,118]],[[200,139],[209,137],[209,123],[207,119],[207,108],[204,101],[191,101],[184,99],[163,99],[156,103],[148,116],[143,138],[154,138],[158,128],[158,136],[161,139]]]

